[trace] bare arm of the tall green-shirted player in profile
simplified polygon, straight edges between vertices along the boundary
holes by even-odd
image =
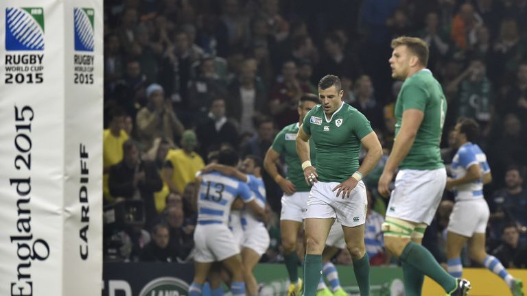
[[[399,130],[399,134],[395,138],[392,153],[390,153],[386,161],[384,171],[395,171],[403,159],[406,158],[408,152],[410,152],[410,148],[414,145],[415,136],[417,135],[419,126],[421,126],[421,122],[423,122],[424,116],[423,111],[417,109],[408,109],[403,112],[401,130]]]

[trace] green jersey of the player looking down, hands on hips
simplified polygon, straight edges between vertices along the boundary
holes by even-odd
[[[329,120],[324,108],[315,106],[302,127],[315,142],[314,167],[321,182],[344,182],[351,177],[359,168],[360,140],[373,131],[368,119],[347,103],[342,103]]]

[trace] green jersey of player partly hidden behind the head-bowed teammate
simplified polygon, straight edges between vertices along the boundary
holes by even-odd
[[[304,179],[304,172],[302,171],[302,164],[300,158],[296,154],[296,134],[298,133],[298,123],[290,124],[284,127],[274,138],[272,149],[285,158],[285,164],[288,165],[287,179],[296,186],[296,192],[309,191],[311,188],[307,186]],[[315,149],[313,141],[309,140],[309,148],[311,152],[311,163],[315,165]]]

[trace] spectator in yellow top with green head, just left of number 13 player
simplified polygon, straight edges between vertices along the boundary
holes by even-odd
[[[194,131],[183,132],[180,144],[180,149],[168,151],[163,166],[163,180],[170,191],[178,193],[183,192],[187,184],[193,183],[196,180],[196,173],[205,166],[203,159],[195,151],[198,141]]]

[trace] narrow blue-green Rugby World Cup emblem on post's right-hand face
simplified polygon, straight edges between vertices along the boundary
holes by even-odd
[[[93,51],[93,9],[73,8],[75,51]]]

